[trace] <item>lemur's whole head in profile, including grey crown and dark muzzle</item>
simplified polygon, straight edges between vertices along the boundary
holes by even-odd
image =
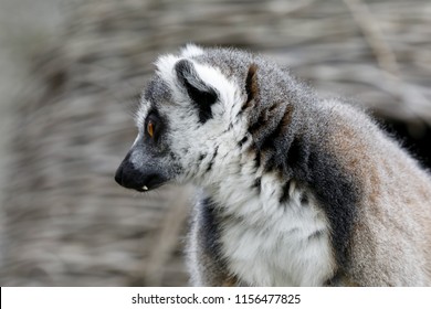
[[[269,89],[259,89],[261,67],[273,67],[245,52],[196,45],[156,66],[136,114],[138,136],[115,180],[138,191],[171,180],[208,182],[216,157],[220,174],[235,172],[241,146],[253,139],[250,126],[262,120],[255,102]]]

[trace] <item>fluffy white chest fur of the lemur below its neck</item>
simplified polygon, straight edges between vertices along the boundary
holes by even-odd
[[[232,217],[221,226],[229,270],[243,285],[320,286],[333,275],[335,264],[325,215],[311,193],[293,182],[290,200],[280,204],[282,187],[275,175],[262,177],[260,194],[251,190],[253,177],[246,172],[251,164],[242,166],[245,173],[221,181],[219,190],[207,189],[227,217]],[[309,196],[306,205],[302,194]],[[316,233],[319,236],[314,237]]]

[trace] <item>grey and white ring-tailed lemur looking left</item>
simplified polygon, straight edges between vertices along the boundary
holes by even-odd
[[[366,113],[235,49],[156,66],[115,180],[199,188],[192,285],[431,285],[431,178]]]

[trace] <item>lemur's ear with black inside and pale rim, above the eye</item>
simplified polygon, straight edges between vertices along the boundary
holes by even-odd
[[[211,106],[218,99],[217,90],[199,77],[191,61],[180,60],[175,65],[175,71],[178,82],[198,108],[199,121],[204,124],[212,118]]]

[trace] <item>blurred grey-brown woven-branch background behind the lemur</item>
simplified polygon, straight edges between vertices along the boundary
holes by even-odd
[[[431,164],[429,0],[0,0],[1,286],[185,286],[191,188],[115,169],[160,53],[264,54]]]

